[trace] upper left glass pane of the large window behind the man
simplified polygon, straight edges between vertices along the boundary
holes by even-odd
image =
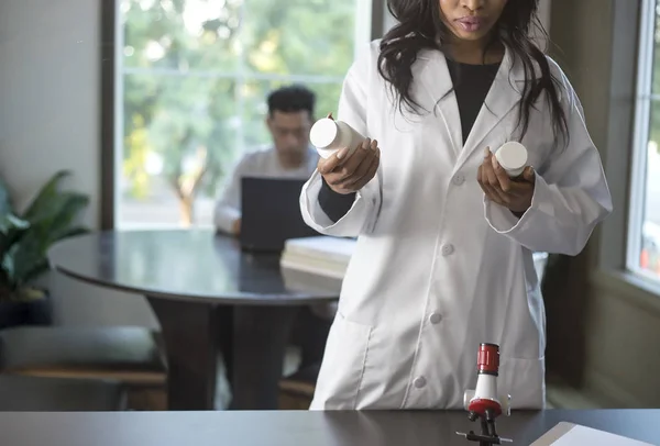
[[[241,1],[122,0],[127,67],[234,71]]]

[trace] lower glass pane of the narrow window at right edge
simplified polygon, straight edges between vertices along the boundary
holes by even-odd
[[[639,266],[660,279],[660,102],[651,103]]]

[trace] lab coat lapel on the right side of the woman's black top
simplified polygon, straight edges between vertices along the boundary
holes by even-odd
[[[497,70],[497,75],[488,90],[484,105],[482,105],[465,145],[459,155],[457,168],[460,168],[474,153],[485,148],[482,142],[486,135],[518,105],[521,98],[525,73],[519,64],[514,64],[512,52],[507,48]],[[510,138],[512,135],[506,135]],[[495,150],[497,147],[491,147]]]

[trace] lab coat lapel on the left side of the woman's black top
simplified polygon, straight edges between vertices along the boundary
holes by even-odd
[[[441,126],[453,148],[452,155],[461,152],[463,132],[457,96],[444,55],[439,51],[422,51],[418,56],[418,76],[422,91],[419,92],[418,103],[424,108],[422,113],[430,112],[432,125]]]

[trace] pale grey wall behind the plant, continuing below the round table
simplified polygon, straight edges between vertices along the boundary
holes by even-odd
[[[99,212],[99,0],[0,1],[0,175],[24,207],[58,169]],[[57,321],[156,326],[142,297],[53,275]]]

